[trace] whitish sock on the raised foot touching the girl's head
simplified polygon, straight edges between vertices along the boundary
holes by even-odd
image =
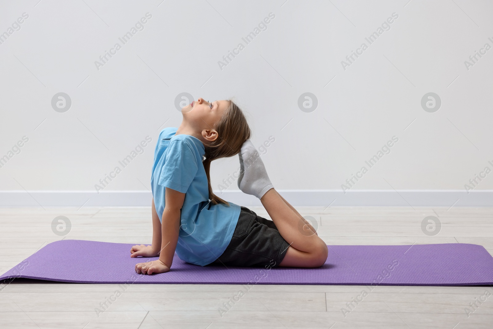
[[[238,153],[240,156],[240,177],[238,187],[246,194],[261,198],[268,190],[274,188],[265,171],[264,162],[257,149],[247,140]]]

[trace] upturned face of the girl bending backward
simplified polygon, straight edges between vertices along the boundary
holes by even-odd
[[[181,113],[183,119],[196,131],[213,130],[228,106],[229,102],[225,100],[209,102],[199,98],[182,108]]]

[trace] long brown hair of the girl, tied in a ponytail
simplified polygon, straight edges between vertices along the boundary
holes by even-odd
[[[227,158],[240,152],[243,143],[250,139],[251,130],[246,122],[243,111],[232,100],[228,100],[229,107],[224,111],[221,120],[216,124],[215,130],[219,137],[205,146],[205,159],[202,161],[206,170],[207,181],[209,183],[209,199],[216,205],[229,203],[212,192],[211,187],[211,162],[219,158]]]

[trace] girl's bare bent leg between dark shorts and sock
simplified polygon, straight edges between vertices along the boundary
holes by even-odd
[[[260,202],[276,224],[281,236],[290,244],[280,266],[319,267],[325,263],[327,245],[276,189],[271,188],[267,191]]]

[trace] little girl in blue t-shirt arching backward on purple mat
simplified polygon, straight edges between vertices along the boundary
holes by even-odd
[[[231,100],[199,98],[181,109],[178,128],[159,134],[152,166],[152,244],[135,245],[137,273],[168,272],[173,256],[205,266],[319,267],[327,246],[315,229],[274,189],[246,118]],[[211,161],[239,154],[238,187],[255,195],[272,220],[226,202],[211,188]]]

